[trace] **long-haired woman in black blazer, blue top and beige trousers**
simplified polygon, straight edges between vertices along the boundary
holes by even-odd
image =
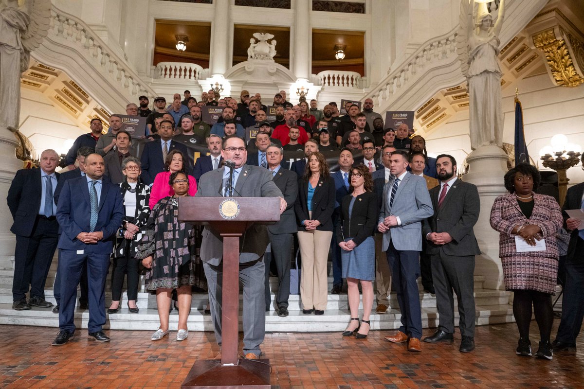
[[[302,256],[300,297],[304,314],[325,313],[328,297],[326,261],[332,239],[335,209],[335,180],[329,175],[325,157],[314,152],[308,157],[304,175],[298,180],[294,211],[300,226],[298,244]]]

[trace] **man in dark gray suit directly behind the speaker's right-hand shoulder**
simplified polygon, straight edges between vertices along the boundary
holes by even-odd
[[[278,292],[276,293],[276,304],[278,316],[288,316],[288,296],[290,295],[290,258],[292,250],[293,234],[298,231],[296,214],[294,213],[294,201],[298,196],[298,175],[281,167],[284,157],[284,150],[278,146],[268,146],[266,150],[267,169],[274,177],[274,183],[284,194],[288,206],[286,211],[280,216],[280,221],[267,226],[267,233],[272,244],[271,258],[276,263],[278,272]],[[266,260],[266,311],[270,309],[272,295],[270,293],[270,260]]]

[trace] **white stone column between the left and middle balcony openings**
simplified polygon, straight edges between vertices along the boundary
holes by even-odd
[[[215,18],[211,23],[211,53],[210,70],[211,75],[223,75],[227,69],[231,68],[229,60],[230,25],[231,10],[230,1],[214,1]]]

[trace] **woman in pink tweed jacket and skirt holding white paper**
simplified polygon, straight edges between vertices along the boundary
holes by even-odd
[[[552,359],[550,332],[554,320],[551,295],[558,275],[557,233],[562,228],[562,213],[554,198],[533,192],[540,183],[534,166],[518,164],[505,174],[509,194],[495,199],[491,227],[499,235],[499,257],[503,264],[505,289],[515,292],[513,316],[519,328],[517,355],[531,356],[529,325],[531,304],[540,329],[538,358]],[[530,246],[545,240],[543,251],[517,251],[516,236]]]

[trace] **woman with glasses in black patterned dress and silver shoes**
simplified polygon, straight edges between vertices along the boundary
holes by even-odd
[[[145,288],[156,293],[160,327],[152,340],[168,335],[168,318],[172,289],[178,293],[179,324],[177,341],[187,338],[187,319],[192,300],[191,287],[197,276],[194,268],[196,230],[188,223],[179,222],[179,197],[189,195],[190,178],[182,171],[171,173],[168,185],[173,195],[157,202],[150,212],[146,234],[142,238],[136,258],[150,269],[146,274]]]

